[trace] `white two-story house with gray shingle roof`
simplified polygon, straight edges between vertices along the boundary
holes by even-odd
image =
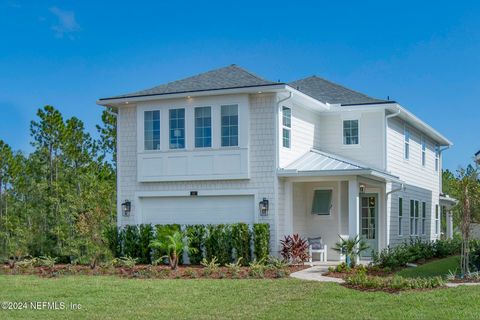
[[[273,254],[292,233],[439,237],[451,142],[397,102],[231,65],[98,103],[118,111],[119,226],[266,222]]]

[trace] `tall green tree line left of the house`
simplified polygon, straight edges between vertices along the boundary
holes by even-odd
[[[116,119],[106,109],[97,139],[83,122],[45,106],[30,124],[33,151],[0,140],[0,258],[27,255],[91,263],[108,254],[116,221]]]

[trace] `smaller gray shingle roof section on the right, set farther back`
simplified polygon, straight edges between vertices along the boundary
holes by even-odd
[[[348,105],[392,102],[371,98],[317,76],[296,80],[288,85],[324,103]]]

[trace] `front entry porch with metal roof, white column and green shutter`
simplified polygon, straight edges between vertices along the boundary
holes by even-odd
[[[340,237],[363,238],[370,247],[361,257],[366,261],[372,250],[388,245],[387,200],[392,182],[398,178],[318,151],[289,167],[280,173],[285,194],[284,234],[321,237],[327,245],[328,262],[343,259],[333,250]]]

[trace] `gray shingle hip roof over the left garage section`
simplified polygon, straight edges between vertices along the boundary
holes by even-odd
[[[260,78],[259,76],[256,76],[253,73],[232,64],[227,67],[200,73],[192,77],[162,84],[147,90],[132,92],[110,98],[103,98],[100,100],[220,89],[269,86],[277,84],[280,83]]]

